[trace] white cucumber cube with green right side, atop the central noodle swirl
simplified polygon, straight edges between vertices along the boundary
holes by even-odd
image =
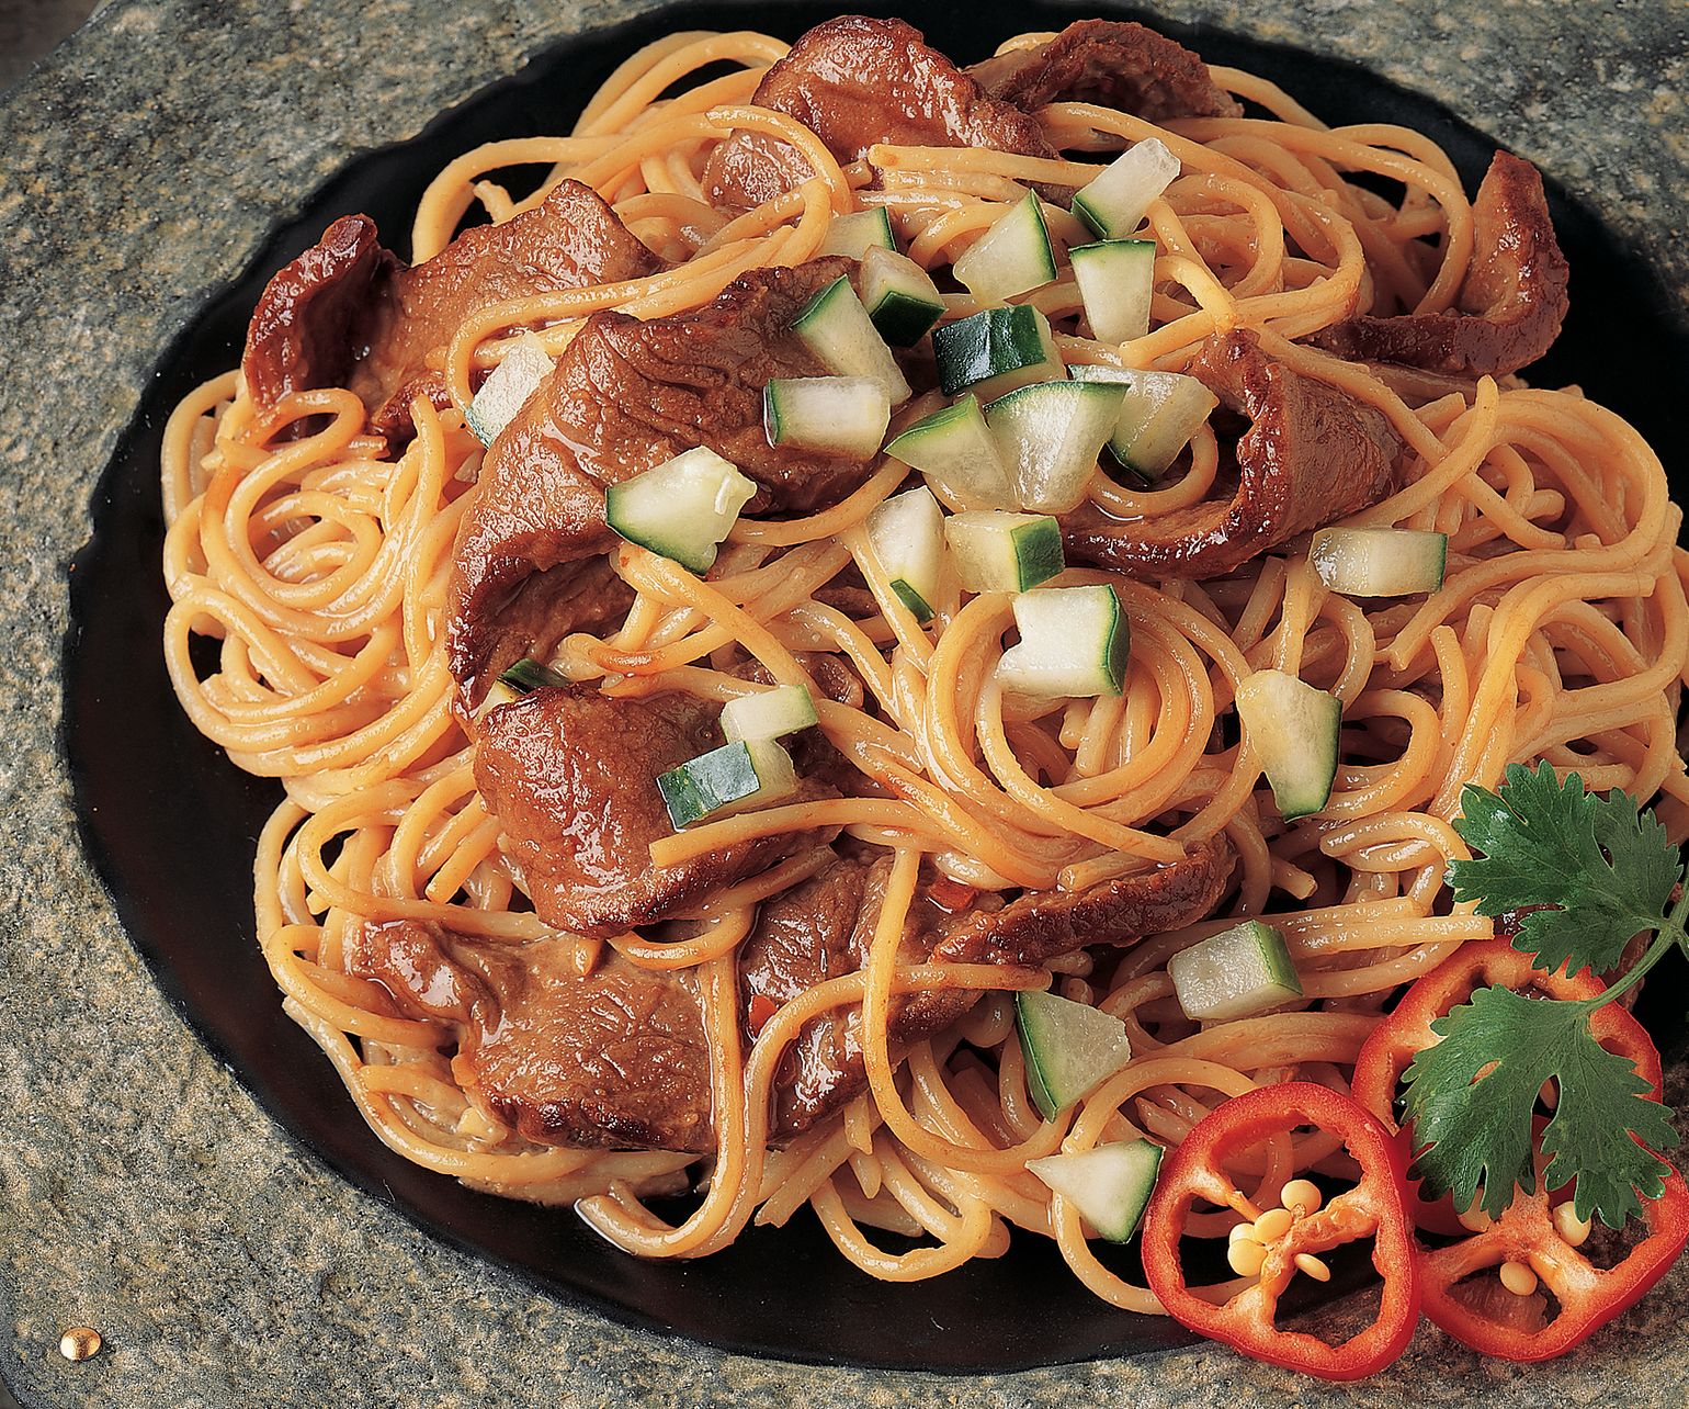
[[[1108,586],[1034,588],[1013,601],[1020,644],[997,677],[1020,694],[1093,699],[1120,694],[1132,628]]]

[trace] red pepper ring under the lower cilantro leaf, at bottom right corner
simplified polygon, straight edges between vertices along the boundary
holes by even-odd
[[[1611,1012],[1613,1005],[1601,1009]],[[1554,1227],[1556,1196],[1537,1181],[1537,1191],[1518,1191],[1507,1213],[1481,1233],[1427,1252],[1420,1259],[1426,1316],[1461,1345],[1503,1360],[1552,1360],[1615,1316],[1635,1306],[1670,1270],[1689,1243],[1689,1188],[1674,1169],[1665,1191],[1642,1201],[1648,1235],[1615,1267],[1596,1267]],[[1520,1262],[1554,1292],[1559,1313],[1534,1326],[1502,1297],[1513,1297],[1496,1282],[1495,1291],[1458,1291],[1458,1284],[1503,1262]],[[1525,1297],[1515,1297],[1523,1304]]]

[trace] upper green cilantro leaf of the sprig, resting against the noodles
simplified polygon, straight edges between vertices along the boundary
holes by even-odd
[[[1454,823],[1473,851],[1449,865],[1456,900],[1478,900],[1478,914],[1527,906],[1513,948],[1549,971],[1610,970],[1632,936],[1659,929],[1672,887],[1682,877],[1677,848],[1652,813],[1613,791],[1586,792],[1571,774],[1513,764],[1500,794],[1468,786],[1464,816]]]

